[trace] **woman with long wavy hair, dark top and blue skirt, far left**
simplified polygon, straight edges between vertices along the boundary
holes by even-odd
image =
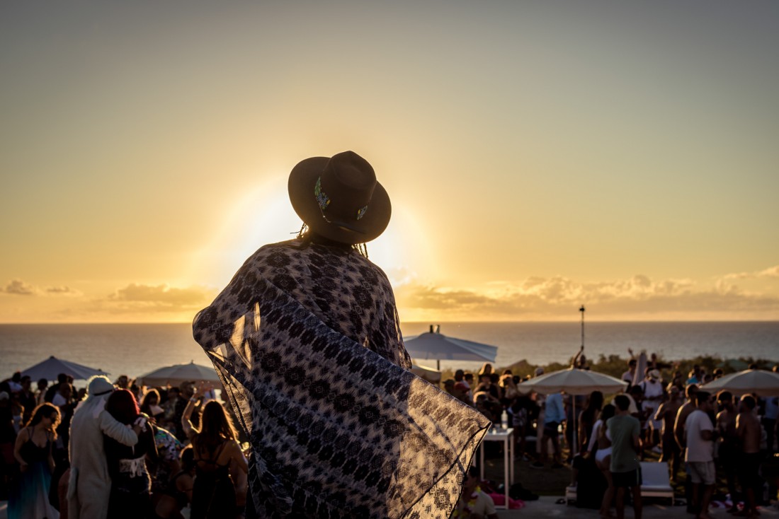
[[[21,477],[8,501],[9,519],[57,519],[59,512],[49,503],[54,458],[51,447],[57,440],[59,409],[55,405],[38,405],[19,435],[13,449]]]

